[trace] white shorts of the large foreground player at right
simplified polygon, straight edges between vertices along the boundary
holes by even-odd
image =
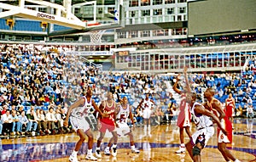
[[[203,128],[201,130],[195,131],[195,133],[192,135],[193,143],[196,142],[197,137],[199,137],[200,135],[203,135],[203,134],[205,135],[205,139],[206,139],[205,146],[206,146],[210,137],[212,137],[214,135],[214,127],[209,126],[209,127]]]

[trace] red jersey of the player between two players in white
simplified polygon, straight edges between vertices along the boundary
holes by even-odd
[[[115,102],[111,105],[108,105],[107,101],[103,103],[102,113],[108,115],[108,117],[101,117],[100,120],[108,125],[114,126],[114,111],[115,111]]]

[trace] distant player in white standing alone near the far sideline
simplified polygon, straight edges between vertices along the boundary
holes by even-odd
[[[141,103],[139,103],[139,106],[143,108],[144,131],[147,132],[148,127],[148,133],[150,135],[150,116],[154,101],[152,99],[149,99],[148,97],[149,94],[146,93],[146,98],[142,99]]]

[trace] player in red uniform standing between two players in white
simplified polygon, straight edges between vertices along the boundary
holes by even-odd
[[[112,133],[113,135],[113,146],[112,146],[112,155],[116,156],[117,154],[117,142],[118,142],[118,134],[116,131],[116,103],[113,100],[113,93],[112,92],[108,92],[107,93],[107,100],[102,101],[99,109],[102,110],[102,112],[106,115],[108,115],[108,117],[102,117],[99,116],[99,120],[98,120],[98,126],[99,126],[99,131],[100,131],[100,137],[97,140],[97,147],[96,147],[96,157],[97,158],[101,158],[101,152],[100,152],[100,146],[102,143],[102,139],[105,136],[106,131],[108,130],[109,132]],[[109,148],[106,148],[104,150],[104,154],[109,155],[110,151]]]

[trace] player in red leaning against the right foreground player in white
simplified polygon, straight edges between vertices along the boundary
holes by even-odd
[[[218,99],[214,98],[215,90],[212,88],[207,88],[206,92],[204,92],[204,97],[207,99],[207,103],[205,103],[205,108],[209,109],[213,112],[214,115],[218,117],[221,122],[221,125],[228,132],[227,135],[224,134],[223,131],[220,131],[218,128],[218,150],[224,156],[226,161],[233,160],[235,162],[239,162],[239,159],[236,159],[233,154],[231,154],[230,150],[227,149],[227,143],[232,143],[232,125],[227,115],[225,115],[225,109],[223,105]]]

